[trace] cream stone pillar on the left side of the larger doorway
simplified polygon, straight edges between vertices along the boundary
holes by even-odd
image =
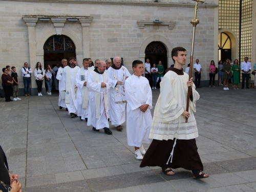
[[[35,69],[36,65],[36,41],[35,41],[35,25],[38,18],[30,18],[30,17],[23,17],[23,20],[26,22],[28,26],[28,37],[29,37],[29,66],[32,71]],[[37,88],[35,83],[34,73],[31,73],[31,94],[35,95],[33,88]]]

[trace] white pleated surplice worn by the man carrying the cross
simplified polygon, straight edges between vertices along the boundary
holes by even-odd
[[[195,84],[192,86],[193,101],[189,100],[190,116],[185,122],[181,115],[186,110],[188,75],[178,75],[168,71],[160,83],[160,95],[155,106],[155,112],[150,132],[151,139],[173,140],[194,139],[198,137],[197,122],[193,112],[196,112],[196,101],[200,98]]]

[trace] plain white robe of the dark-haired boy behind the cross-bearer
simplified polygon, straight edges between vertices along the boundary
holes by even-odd
[[[150,83],[143,76],[132,75],[125,81],[125,93],[127,143],[129,146],[141,147],[142,143],[150,143],[148,138],[152,123]],[[145,113],[139,109],[142,104],[148,104]]]

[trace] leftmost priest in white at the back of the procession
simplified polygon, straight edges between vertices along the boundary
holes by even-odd
[[[61,60],[61,64],[63,66],[58,68],[58,72],[57,72],[57,75],[56,75],[56,79],[59,80],[59,100],[58,100],[58,105],[59,105],[59,109],[61,110],[62,108],[66,108],[67,109],[67,105],[65,104],[65,92],[61,92],[61,78],[62,78],[62,72],[63,72],[63,69],[65,67],[68,66],[68,60],[67,59],[62,59]]]

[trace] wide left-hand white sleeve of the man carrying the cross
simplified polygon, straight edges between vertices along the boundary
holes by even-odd
[[[165,75],[160,87],[161,102],[159,118],[162,122],[175,120],[184,112],[182,106],[174,98],[173,92],[171,79],[168,75]]]

